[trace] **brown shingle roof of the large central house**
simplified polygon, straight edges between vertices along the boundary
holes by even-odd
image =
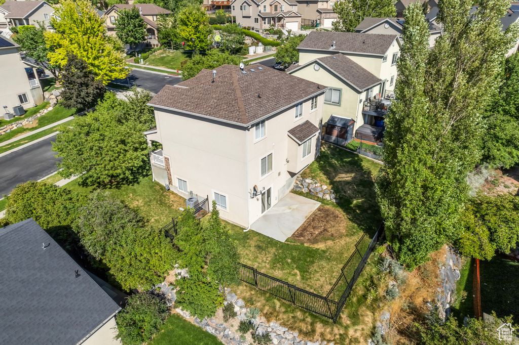
[[[215,70],[214,82],[212,70],[204,69],[175,86],[166,85],[149,105],[246,125],[326,90],[258,64],[246,66],[247,74],[232,65]]]

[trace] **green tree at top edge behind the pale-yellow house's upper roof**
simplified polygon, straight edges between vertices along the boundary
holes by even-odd
[[[397,16],[394,1],[391,0],[344,0],[333,5],[337,20],[333,22],[333,31],[354,32],[364,18],[389,18]]]

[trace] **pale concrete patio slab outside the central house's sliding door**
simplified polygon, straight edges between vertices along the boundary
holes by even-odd
[[[252,223],[255,232],[284,242],[303,225],[321,203],[289,193]]]

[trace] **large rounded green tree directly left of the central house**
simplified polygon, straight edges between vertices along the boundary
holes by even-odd
[[[52,150],[63,157],[59,174],[80,175],[80,183],[133,183],[149,169],[149,148],[143,132],[155,125],[147,91],[133,89],[127,100],[105,93],[97,109],[63,126]]]

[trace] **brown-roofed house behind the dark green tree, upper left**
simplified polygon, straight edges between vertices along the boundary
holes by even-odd
[[[108,33],[115,35],[115,22],[119,16],[119,11],[123,8],[129,10],[132,7],[137,7],[139,9],[141,17],[146,23],[146,33],[148,35],[146,42],[151,44],[153,47],[158,47],[160,44],[157,39],[157,17],[159,15],[169,15],[171,12],[154,4],[117,4],[108,8],[108,10],[104,13],[106,29],[108,30]]]

